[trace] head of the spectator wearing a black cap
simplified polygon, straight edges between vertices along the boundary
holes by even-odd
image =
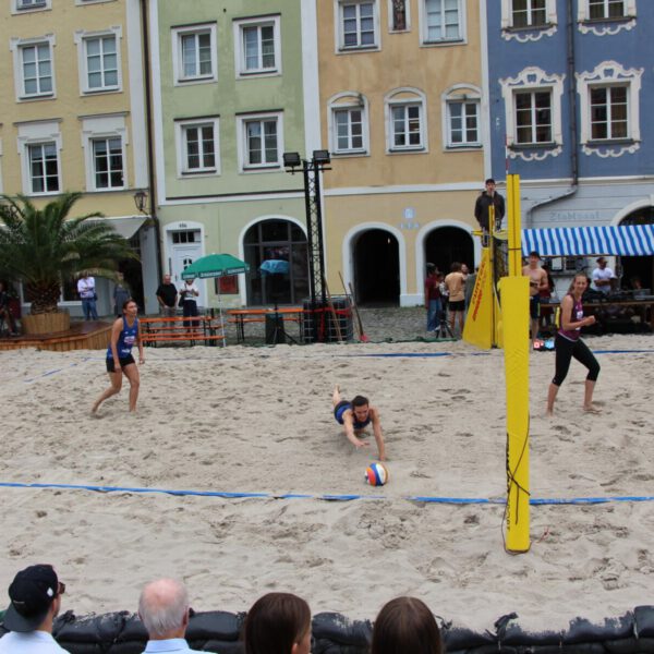
[[[51,632],[64,592],[65,585],[52,566],[29,566],[21,570],[9,586],[11,603],[4,614],[4,627],[19,632]]]

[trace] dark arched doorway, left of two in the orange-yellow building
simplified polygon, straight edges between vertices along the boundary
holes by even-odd
[[[354,243],[356,302],[397,306],[400,301],[400,247],[385,229],[362,232]]]

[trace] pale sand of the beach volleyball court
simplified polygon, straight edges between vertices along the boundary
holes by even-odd
[[[552,421],[554,355],[532,355],[532,494],[654,495],[654,339],[589,343],[649,352],[600,356],[602,415],[581,413],[585,373],[573,362]],[[358,356],[435,351],[453,355]],[[147,349],[138,413],[126,413],[125,387],[94,419],[102,352],[1,352],[0,482],[386,499],[0,488],[0,596],[17,569],[51,562],[78,615],[134,610],[158,576],[182,578],[197,610],[245,610],[277,589],[314,613],[372,618],[411,594],[477,629],[512,610],[528,628],[565,628],[651,603],[652,501],[533,507],[532,549],[509,556],[501,506],[404,499],[504,497],[502,355],[476,353],[464,343]],[[340,435],[334,382],[380,410],[391,481],[378,493],[363,483],[374,440],[358,452]]]

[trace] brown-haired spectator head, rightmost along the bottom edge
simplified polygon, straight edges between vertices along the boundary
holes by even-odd
[[[441,654],[440,631],[432,611],[415,597],[386,604],[373,628],[371,654]]]

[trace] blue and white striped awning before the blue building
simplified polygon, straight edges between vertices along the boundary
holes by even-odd
[[[523,229],[522,254],[541,256],[654,254],[654,225]]]

